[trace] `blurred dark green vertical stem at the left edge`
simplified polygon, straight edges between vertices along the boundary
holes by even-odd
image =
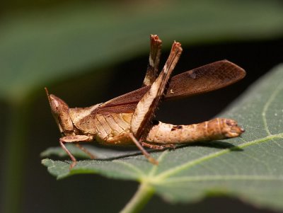
[[[2,166],[1,212],[21,212],[23,202],[24,162],[28,128],[28,105],[11,104]]]

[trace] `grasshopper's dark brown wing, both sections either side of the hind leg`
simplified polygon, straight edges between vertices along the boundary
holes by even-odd
[[[164,100],[184,98],[224,88],[246,76],[246,71],[227,60],[185,71],[173,76]],[[134,113],[142,96],[150,86],[144,86],[100,105],[98,113]]]

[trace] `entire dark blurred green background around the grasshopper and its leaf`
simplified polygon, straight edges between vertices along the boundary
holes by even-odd
[[[282,62],[283,4],[275,0],[1,1],[2,212],[117,212],[127,203],[137,183],[98,175],[58,182],[40,165],[40,152],[57,146],[59,138],[43,88],[72,107],[139,88],[149,34],[163,40],[163,62],[173,40],[183,44],[175,73],[219,59],[229,59],[248,72],[236,86],[164,103],[158,111],[165,122],[199,122],[219,113]],[[267,212],[223,197],[178,206],[154,197],[144,212],[214,208],[226,212],[228,207],[230,212]]]

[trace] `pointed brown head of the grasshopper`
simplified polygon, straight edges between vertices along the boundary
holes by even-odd
[[[74,125],[69,115],[69,106],[67,103],[57,96],[49,94],[47,88],[45,88],[45,91],[50,103],[52,115],[57,122],[60,132],[64,135],[74,132]]]

